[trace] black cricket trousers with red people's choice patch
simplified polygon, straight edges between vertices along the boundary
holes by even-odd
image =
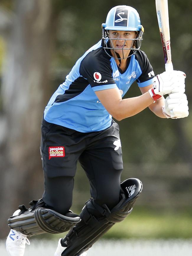
[[[79,160],[89,182],[91,197],[109,209],[119,202],[123,170],[118,124],[99,132],[77,132],[42,120],[41,157],[45,177],[43,201],[65,214],[72,205],[74,176]]]

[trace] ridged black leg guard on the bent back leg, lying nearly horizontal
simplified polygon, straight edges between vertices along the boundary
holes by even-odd
[[[81,220],[72,211],[62,215],[54,210],[47,209],[42,200],[33,200],[30,205],[30,209],[27,209],[25,205],[19,206],[20,213],[8,219],[9,228],[27,236],[46,232],[58,234],[68,231]]]

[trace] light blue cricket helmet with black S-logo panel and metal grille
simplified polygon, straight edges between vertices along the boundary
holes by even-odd
[[[102,23],[102,47],[105,49],[105,51],[106,49],[113,49],[113,51],[115,51],[113,43],[112,46],[108,43],[109,40],[112,40],[108,36],[108,30],[138,31],[136,38],[133,40],[133,46],[130,48],[130,50],[133,50],[134,54],[137,50],[140,49],[144,27],[141,25],[139,13],[133,7],[127,5],[118,5],[113,7],[108,12],[106,22]],[[108,51],[106,52],[108,54]]]

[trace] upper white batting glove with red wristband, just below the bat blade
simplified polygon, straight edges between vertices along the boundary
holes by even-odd
[[[184,93],[185,78],[186,74],[182,71],[165,71],[155,77],[153,88],[149,90],[149,93],[154,101],[165,94]]]

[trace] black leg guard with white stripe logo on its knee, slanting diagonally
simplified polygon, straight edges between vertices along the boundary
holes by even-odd
[[[142,183],[139,179],[131,178],[121,182],[120,202],[112,210],[106,205],[97,205],[93,199],[87,201],[80,213],[81,221],[64,239],[67,248],[61,255],[74,256],[87,251],[115,223],[123,221],[131,213],[141,190]],[[100,218],[90,214],[89,209],[93,208],[100,212]]]

